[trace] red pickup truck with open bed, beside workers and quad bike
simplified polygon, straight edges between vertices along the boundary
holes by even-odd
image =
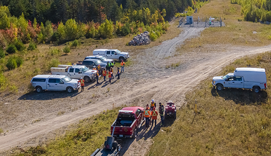
[[[144,108],[142,107],[124,107],[119,110],[115,122],[111,125],[111,135],[115,126],[113,137],[117,138],[135,138],[137,129],[144,122]]]

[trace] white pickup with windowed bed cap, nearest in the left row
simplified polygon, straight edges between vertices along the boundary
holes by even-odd
[[[41,93],[44,90],[72,93],[81,87],[78,80],[64,75],[37,75],[31,79],[30,83],[36,88],[37,93]]]

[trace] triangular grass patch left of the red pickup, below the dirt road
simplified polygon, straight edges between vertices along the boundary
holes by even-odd
[[[64,136],[55,138],[46,145],[20,149],[15,155],[91,155],[110,135],[120,107],[86,118],[76,128],[67,130]]]

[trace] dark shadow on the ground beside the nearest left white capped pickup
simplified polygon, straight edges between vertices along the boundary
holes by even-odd
[[[75,97],[80,94],[81,88],[79,90],[74,91],[73,93],[67,93],[65,91],[43,91],[41,93],[29,92],[27,94],[22,95],[18,98],[18,100],[52,100],[52,99],[60,99],[66,97]]]

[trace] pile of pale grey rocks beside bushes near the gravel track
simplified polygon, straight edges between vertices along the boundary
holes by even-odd
[[[129,41],[129,46],[142,46],[150,43],[149,32],[145,31],[144,33],[134,36],[132,40]]]

